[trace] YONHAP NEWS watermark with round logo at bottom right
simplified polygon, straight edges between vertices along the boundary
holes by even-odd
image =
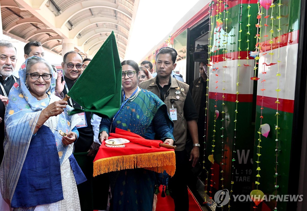
[[[247,202],[247,201],[303,201],[303,195],[235,195],[232,194],[230,196],[229,190],[219,190],[214,194],[214,201],[216,202],[216,205],[218,207],[227,205],[229,200],[232,201],[241,201],[241,202]]]

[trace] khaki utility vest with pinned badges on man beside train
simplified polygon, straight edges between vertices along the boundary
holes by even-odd
[[[167,106],[167,111],[169,112],[169,109],[177,108],[177,120],[173,120],[174,122],[174,131],[173,135],[175,138],[175,145],[177,146],[177,151],[182,151],[185,149],[185,142],[187,139],[187,121],[184,116],[183,107],[185,104],[185,99],[189,91],[189,85],[185,84],[173,77],[171,78],[171,85],[169,87],[169,90],[166,93],[169,93],[168,95],[165,94],[161,98],[159,87],[157,85],[157,77],[154,77],[152,79],[146,80],[140,84],[140,88],[147,89],[150,92],[156,94],[160,99],[165,99],[163,102]],[[176,94],[175,92],[180,92],[180,94]],[[166,96],[167,95],[167,96]]]

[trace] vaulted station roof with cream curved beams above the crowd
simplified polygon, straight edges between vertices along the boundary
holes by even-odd
[[[139,0],[0,0],[3,34],[23,42],[40,41],[62,53],[62,40],[93,57],[103,40],[115,33],[124,58]]]

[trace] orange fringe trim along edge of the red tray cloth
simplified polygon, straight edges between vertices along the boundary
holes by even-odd
[[[102,158],[94,162],[93,176],[134,168],[145,168],[157,173],[165,170],[172,177],[176,171],[175,152],[153,152]]]

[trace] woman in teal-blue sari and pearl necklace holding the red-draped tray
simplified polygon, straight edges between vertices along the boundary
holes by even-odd
[[[155,94],[138,87],[138,64],[132,60],[122,62],[122,106],[113,119],[102,118],[99,141],[108,138],[120,128],[146,139],[155,137],[173,145],[173,122],[166,105]],[[111,128],[111,129],[110,129]],[[111,184],[110,210],[152,211],[155,173],[143,168],[109,173]]]

